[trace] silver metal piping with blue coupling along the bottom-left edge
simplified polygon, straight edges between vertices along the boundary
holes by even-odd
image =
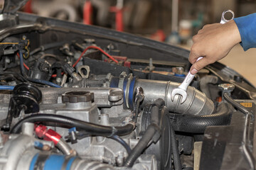
[[[3,137],[1,135],[1,137]],[[65,169],[89,170],[89,169],[128,169],[126,167],[114,167],[110,164],[93,161],[92,159],[82,159],[80,157],[70,157],[61,154],[52,154],[36,149],[36,142],[53,147],[53,142],[37,140],[29,135],[9,135],[4,147],[0,149],[0,169],[21,170],[21,169]],[[66,163],[65,163],[66,162]],[[142,155],[138,163],[131,168],[134,170],[156,169],[156,159],[151,155]]]

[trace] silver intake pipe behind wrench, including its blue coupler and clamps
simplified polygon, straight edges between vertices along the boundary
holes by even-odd
[[[206,94],[192,86],[188,86],[188,96],[184,103],[181,104],[181,96],[179,95],[176,95],[174,101],[171,101],[171,91],[179,85],[179,83],[172,81],[137,79],[132,74],[124,78],[112,78],[110,81],[110,87],[119,87],[124,90],[124,105],[127,108],[133,107],[134,89],[140,86],[144,91],[142,106],[154,101],[156,98],[162,98],[171,113],[188,115],[210,115],[213,113],[213,101],[207,98]]]

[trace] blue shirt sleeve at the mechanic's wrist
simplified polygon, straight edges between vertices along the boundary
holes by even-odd
[[[240,32],[242,48],[246,51],[249,48],[256,47],[256,13],[234,18],[234,21]]]

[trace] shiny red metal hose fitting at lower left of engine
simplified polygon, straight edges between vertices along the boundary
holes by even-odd
[[[36,135],[43,138],[43,140],[53,141],[54,145],[57,145],[61,138],[58,132],[55,132],[52,129],[47,129],[45,125],[35,125],[35,132]]]

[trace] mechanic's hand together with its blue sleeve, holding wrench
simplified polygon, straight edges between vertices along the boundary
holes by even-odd
[[[193,46],[189,55],[191,74],[196,74],[208,64],[216,62],[226,55],[239,42],[244,50],[256,47],[256,13],[235,18],[225,24],[206,25],[193,37]],[[202,60],[196,62],[198,57]]]

